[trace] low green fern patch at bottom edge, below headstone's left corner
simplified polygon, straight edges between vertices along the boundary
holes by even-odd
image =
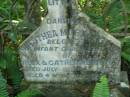
[[[37,90],[27,89],[27,90],[19,93],[16,97],[32,97],[32,96],[36,96],[36,95],[43,95],[43,93],[41,93],[40,91],[37,91]]]

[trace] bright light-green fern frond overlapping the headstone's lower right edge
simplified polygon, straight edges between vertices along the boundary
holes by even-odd
[[[102,76],[100,82],[96,84],[93,97],[110,97],[108,79]]]

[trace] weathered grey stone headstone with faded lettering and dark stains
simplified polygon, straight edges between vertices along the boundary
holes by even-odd
[[[20,45],[27,81],[92,82],[106,74],[120,82],[120,42],[79,11],[77,0],[47,0],[48,15]]]

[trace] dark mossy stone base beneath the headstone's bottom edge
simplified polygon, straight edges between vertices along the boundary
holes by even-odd
[[[90,84],[89,84],[90,85]],[[95,85],[73,85],[73,86],[54,86],[47,84],[31,84],[30,89],[38,89],[42,91],[45,97],[90,97]]]

